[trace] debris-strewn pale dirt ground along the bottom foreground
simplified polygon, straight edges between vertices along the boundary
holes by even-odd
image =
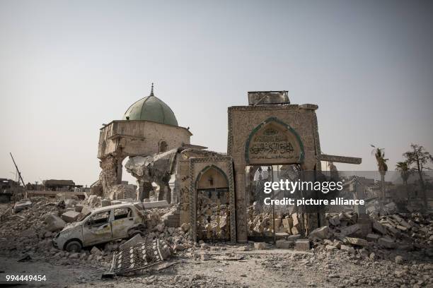
[[[18,274],[46,275],[46,282],[25,287],[433,287],[433,259],[397,264],[345,251],[236,248],[208,251],[210,260],[178,256],[153,270],[114,280],[101,280],[104,269],[92,266],[0,257],[0,283],[6,284],[6,275]],[[229,253],[236,260],[225,260]]]

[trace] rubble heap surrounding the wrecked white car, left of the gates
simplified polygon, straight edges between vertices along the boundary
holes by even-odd
[[[81,253],[69,253],[52,246],[52,239],[64,227],[80,221],[93,208],[102,205],[97,196],[87,200],[50,199],[35,197],[30,199],[32,205],[16,214],[6,210],[0,222],[1,254],[8,257],[54,260],[61,265],[96,265],[109,268],[112,253],[120,251],[127,239],[108,242],[84,248]],[[115,201],[112,201],[115,202]],[[183,253],[192,247],[188,234],[189,226],[166,227],[163,215],[170,215],[176,207],[140,210],[147,228],[135,241],[153,241],[160,239],[175,251]],[[135,237],[134,237],[135,238]],[[131,241],[130,239],[129,241]]]

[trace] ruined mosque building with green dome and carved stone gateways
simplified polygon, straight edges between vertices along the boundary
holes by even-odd
[[[150,95],[132,104],[122,120],[100,129],[101,196],[167,200],[178,206],[178,224],[190,225],[195,241],[246,242],[254,226],[250,211],[258,202],[252,183],[265,172],[321,172],[321,161],[361,163],[321,152],[316,109],[290,104],[287,91],[248,92],[248,105],[228,109],[227,152],[213,152],[190,143],[189,128],[178,126],[152,85]],[[129,193],[122,185],[126,158],[125,168],[139,187]],[[304,213],[301,231],[307,234],[322,220],[320,212]]]

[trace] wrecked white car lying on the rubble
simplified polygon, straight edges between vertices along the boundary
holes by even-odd
[[[57,233],[53,246],[66,251],[125,239],[143,234],[142,214],[132,203],[110,205],[93,210],[83,220],[69,224]]]

